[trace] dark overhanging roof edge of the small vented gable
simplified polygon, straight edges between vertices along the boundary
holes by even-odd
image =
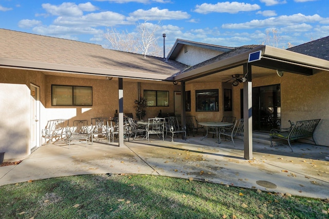
[[[193,41],[186,41],[185,39],[176,39],[174,46],[171,48],[169,54],[167,55],[167,59],[175,60],[177,55],[179,54],[180,50],[184,45],[195,46],[203,49],[210,49],[220,52],[228,52],[234,49],[233,47],[227,46],[218,46],[213,44],[205,44],[205,43],[198,43]]]

